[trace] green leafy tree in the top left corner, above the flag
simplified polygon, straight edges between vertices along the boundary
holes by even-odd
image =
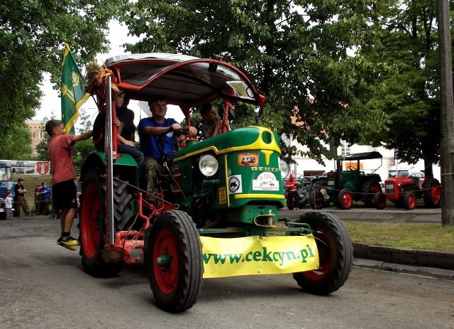
[[[96,53],[107,50],[108,22],[120,3],[121,0],[0,2],[1,155],[20,158],[25,151],[7,150],[4,141],[17,143],[21,138],[23,145],[30,145],[31,135],[22,134],[20,127],[33,117],[40,104],[43,72],[50,72],[52,82],[58,85],[62,43],[71,45],[79,65],[93,60]]]

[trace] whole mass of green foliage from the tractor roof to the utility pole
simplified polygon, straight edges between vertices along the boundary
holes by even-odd
[[[220,56],[267,96],[262,125],[333,156],[321,142],[384,145],[437,163],[435,1],[131,1],[133,53]],[[244,114],[241,113],[244,111]],[[241,124],[253,109],[240,108]],[[295,114],[299,126],[292,124]],[[282,145],[284,153],[287,149]]]

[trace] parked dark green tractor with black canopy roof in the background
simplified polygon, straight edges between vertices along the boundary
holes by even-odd
[[[375,173],[382,163],[372,173],[360,169],[360,161],[375,158],[381,160],[382,155],[377,151],[348,154],[336,161],[336,171],[314,178],[309,195],[312,209],[320,210],[330,203],[341,209],[350,209],[353,201],[362,201],[366,207],[384,209],[386,197],[380,186],[380,175]]]

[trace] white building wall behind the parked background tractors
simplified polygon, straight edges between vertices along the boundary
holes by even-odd
[[[308,151],[308,148],[306,146],[302,146],[301,144],[297,143],[297,141],[291,140],[286,136],[282,136],[282,141],[284,141],[284,143],[288,146],[295,146],[300,151]],[[327,149],[329,149],[328,145],[325,144],[325,146]],[[409,163],[401,163],[399,162],[399,159],[394,161],[394,149],[389,150],[384,149],[384,147],[377,147],[372,149],[371,146],[356,144],[350,146],[350,153],[362,153],[370,151],[380,152],[380,154],[382,154],[383,156],[382,161],[380,161],[380,159],[361,161],[363,166],[362,170],[365,171],[365,173],[372,173],[372,171],[376,170],[375,173],[378,173],[382,180],[385,180],[388,177],[388,171],[390,170],[408,170],[411,173],[419,172],[424,169],[424,161],[422,159],[414,165],[410,165]],[[341,146],[338,147],[338,154],[341,155]],[[334,170],[336,162],[334,160],[323,158],[323,164],[320,164],[311,158],[301,156],[294,156],[293,160],[296,161],[296,163],[292,163],[290,165],[290,172],[296,175],[304,175],[304,171],[332,171]],[[439,181],[441,181],[440,173],[440,166],[433,166],[433,177],[437,178]]]

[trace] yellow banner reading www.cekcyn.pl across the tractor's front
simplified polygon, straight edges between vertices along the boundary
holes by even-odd
[[[319,268],[315,239],[309,236],[200,237],[204,278],[284,274]]]

